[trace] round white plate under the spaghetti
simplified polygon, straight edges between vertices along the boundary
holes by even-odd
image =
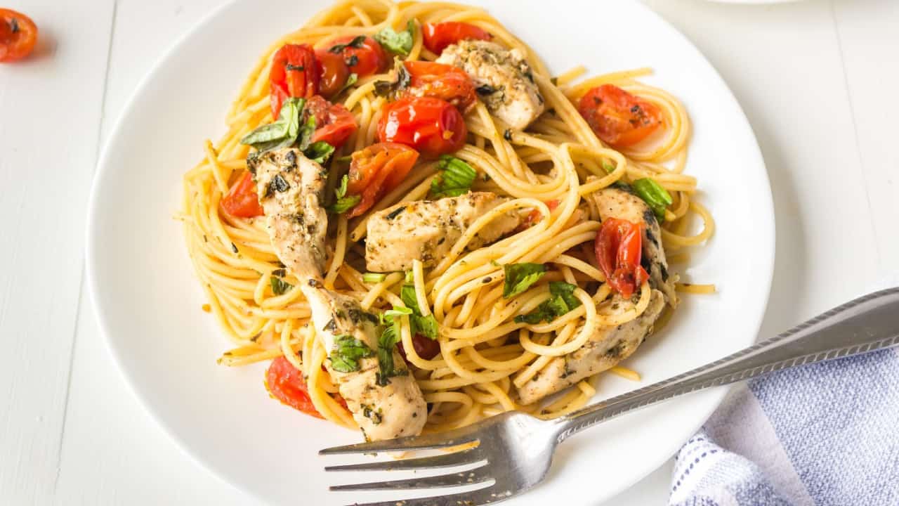
[[[556,71],[651,66],[651,83],[681,97],[695,124],[688,171],[717,233],[694,255],[689,280],[720,293],[686,296],[672,324],[628,361],[642,384],[750,345],[767,301],[774,252],[770,188],[752,130],[721,77],[689,41],[636,1],[547,9],[521,0],[474,2],[528,41]],[[263,365],[217,366],[227,339],[205,303],[182,243],[182,173],[218,138],[259,53],[319,2],[239,0],[210,15],[156,65],[105,147],[87,240],[90,292],[122,374],[156,420],[200,463],[265,501],[316,506],[396,496],[326,492],[373,476],[325,475],[319,448],[359,435],[273,402]],[[634,36],[638,27],[639,36]],[[603,376],[602,397],[639,384]],[[697,393],[613,420],[559,448],[547,481],[514,504],[597,504],[635,483],[698,429],[724,390]],[[414,495],[414,494],[413,494]]]

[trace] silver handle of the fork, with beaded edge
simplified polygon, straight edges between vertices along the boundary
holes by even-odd
[[[793,366],[850,357],[899,343],[899,288],[868,294],[777,337],[682,375],[624,393],[556,419],[557,442],[628,411],[683,393],[731,384]]]

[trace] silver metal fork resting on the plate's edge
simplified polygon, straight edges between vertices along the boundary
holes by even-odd
[[[325,471],[426,470],[467,465],[465,471],[377,483],[332,486],[333,491],[410,490],[491,483],[473,492],[356,506],[460,506],[504,501],[547,475],[556,446],[566,438],[628,411],[722,384],[793,366],[850,357],[899,343],[899,288],[868,294],[779,336],[682,375],[625,393],[555,420],[510,411],[441,434],[332,447],[319,455],[410,452],[470,445],[452,453],[387,462],[329,465]],[[476,445],[476,446],[474,446]]]

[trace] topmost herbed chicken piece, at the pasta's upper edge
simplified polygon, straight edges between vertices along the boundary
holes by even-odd
[[[521,50],[506,50],[489,41],[459,41],[437,63],[465,70],[487,109],[516,130],[524,130],[543,113],[543,96]]]

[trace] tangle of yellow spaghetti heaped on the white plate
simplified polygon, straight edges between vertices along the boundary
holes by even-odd
[[[596,392],[592,378],[580,381],[549,402],[530,405],[518,402],[516,389],[539,375],[553,357],[583,347],[593,329],[632,321],[650,303],[650,290],[644,283],[637,289],[632,310],[610,312],[612,290],[593,254],[592,244],[601,229],[601,220],[590,196],[616,182],[652,178],[671,195],[671,204],[663,211],[664,248],[686,258],[684,248],[703,243],[714,231],[710,213],[693,198],[696,178],[683,174],[690,120],[676,98],[637,80],[648,75],[648,69],[616,72],[576,83],[583,68],[551,77],[534,51],[502,24],[485,11],[464,5],[395,4],[389,0],[341,2],[317,14],[298,31],[275,41],[254,66],[227,113],[227,133],[215,144],[207,142],[205,157],[183,178],[182,221],[187,248],[211,312],[235,345],[219,362],[245,366],[285,357],[305,376],[308,396],[318,413],[345,427],[357,426],[323,367],[328,350],[316,339],[316,330],[309,324],[309,303],[300,290],[276,289],[297,285],[298,278],[290,272],[279,272],[283,266],[271,247],[264,219],[235,217],[224,212],[220,203],[247,169],[249,147],[240,140],[270,121],[269,68],[277,50],[285,44],[328,48],[340,38],[371,36],[386,27],[398,31],[410,21],[417,29],[406,60],[433,60],[439,56],[423,45],[420,28],[424,23],[469,23],[492,34],[495,42],[526,55],[546,103],[546,111],[525,131],[503,128],[480,101],[466,114],[467,140],[454,156],[476,169],[471,189],[512,200],[477,218],[434,267],[425,269],[416,260],[410,271],[423,316],[432,314],[440,326],[440,354],[428,359],[416,351],[409,322],[404,319],[401,324],[400,343],[424,400],[429,403],[425,430],[452,429],[516,409],[546,417],[573,411]],[[339,173],[342,156],[377,141],[377,125],[387,98],[376,95],[376,83],[393,78],[391,73],[360,77],[354,86],[338,95],[359,129],[325,164],[330,171]],[[605,145],[576,105],[588,90],[602,85],[618,86],[654,104],[662,113],[662,133],[625,149]],[[373,212],[396,203],[427,198],[432,179],[438,173],[436,162],[419,161],[405,180],[368,212],[350,220],[344,214],[331,220],[326,288],[356,299],[366,311],[382,312],[391,305],[404,305],[399,296],[406,283],[404,273],[365,276],[367,221]],[[534,210],[530,228],[473,251],[466,250],[478,230],[504,212],[521,209]],[[699,233],[690,234],[695,217],[699,217],[702,227]],[[539,284],[504,298],[502,266],[516,263],[544,264],[549,271]],[[273,273],[280,275],[277,282],[272,280]],[[552,321],[516,321],[516,316],[532,312],[547,301],[549,290],[545,282],[552,281],[575,285],[573,296],[578,307]],[[714,291],[710,285],[678,288],[686,293]],[[618,366],[611,372],[639,378],[635,372]]]

